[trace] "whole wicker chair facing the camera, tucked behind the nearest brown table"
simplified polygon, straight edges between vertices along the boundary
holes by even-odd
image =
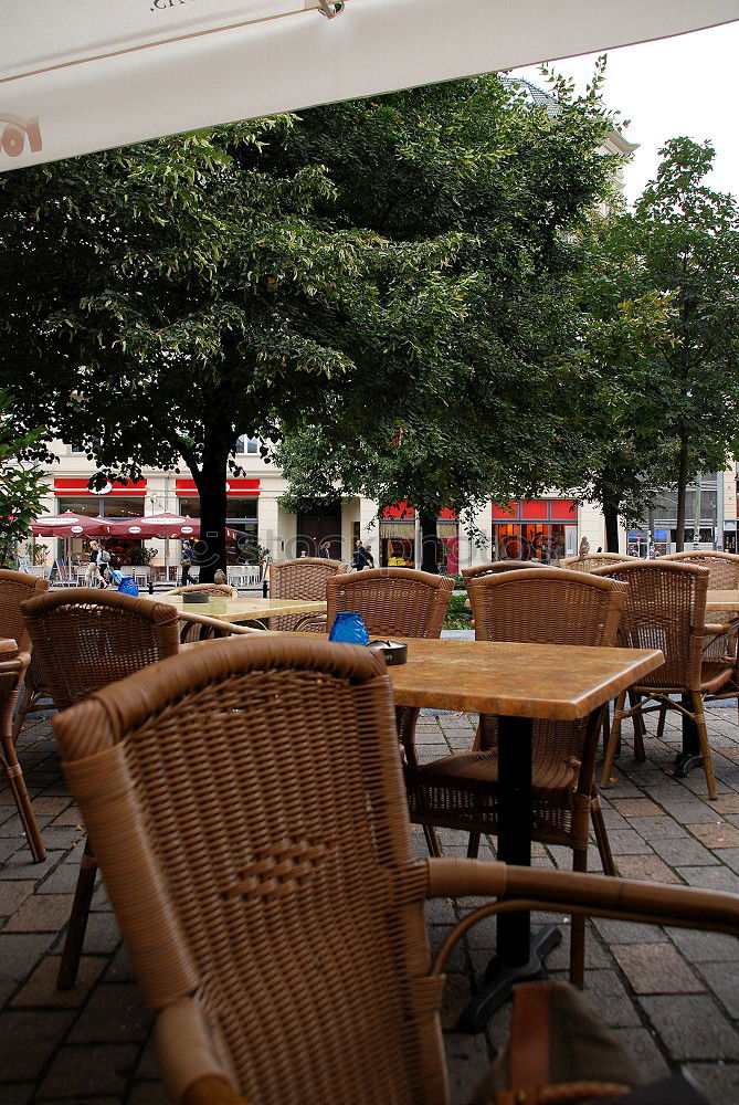
[[[562,568],[528,568],[469,581],[478,641],[613,645],[626,588]],[[588,869],[592,818],[606,874],[615,874],[594,787],[599,718],[534,727],[532,839],[572,850],[576,871]],[[479,748],[419,764],[407,738],[405,785],[411,821],[469,832],[476,856],[482,833],[497,833],[497,718],[481,716]],[[570,977],[582,986],[584,926],[572,924]]]

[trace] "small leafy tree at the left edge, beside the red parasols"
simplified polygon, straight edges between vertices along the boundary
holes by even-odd
[[[15,562],[15,545],[31,533],[47,491],[42,470],[29,459],[43,430],[19,433],[11,397],[0,391],[0,568]]]

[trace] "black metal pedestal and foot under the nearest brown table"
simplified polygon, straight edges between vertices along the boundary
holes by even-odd
[[[531,866],[531,738],[528,717],[498,717],[498,859],[517,866]],[[548,926],[531,936],[531,915],[526,911],[497,918],[495,956],[485,981],[456,1024],[457,1032],[482,1032],[496,1009],[518,982],[542,977],[546,956],[561,941],[558,928]]]

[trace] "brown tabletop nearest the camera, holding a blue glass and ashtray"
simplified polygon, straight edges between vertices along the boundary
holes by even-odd
[[[388,667],[399,706],[572,722],[664,663],[658,649],[409,640]]]

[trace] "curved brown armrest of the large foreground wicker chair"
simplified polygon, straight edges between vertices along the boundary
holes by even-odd
[[[461,920],[442,944],[433,974],[441,974],[452,948],[478,920],[494,913],[538,909],[610,917],[647,925],[707,928],[739,939],[739,895],[634,878],[570,871],[515,867],[479,860],[426,860],[427,897],[494,895]]]

